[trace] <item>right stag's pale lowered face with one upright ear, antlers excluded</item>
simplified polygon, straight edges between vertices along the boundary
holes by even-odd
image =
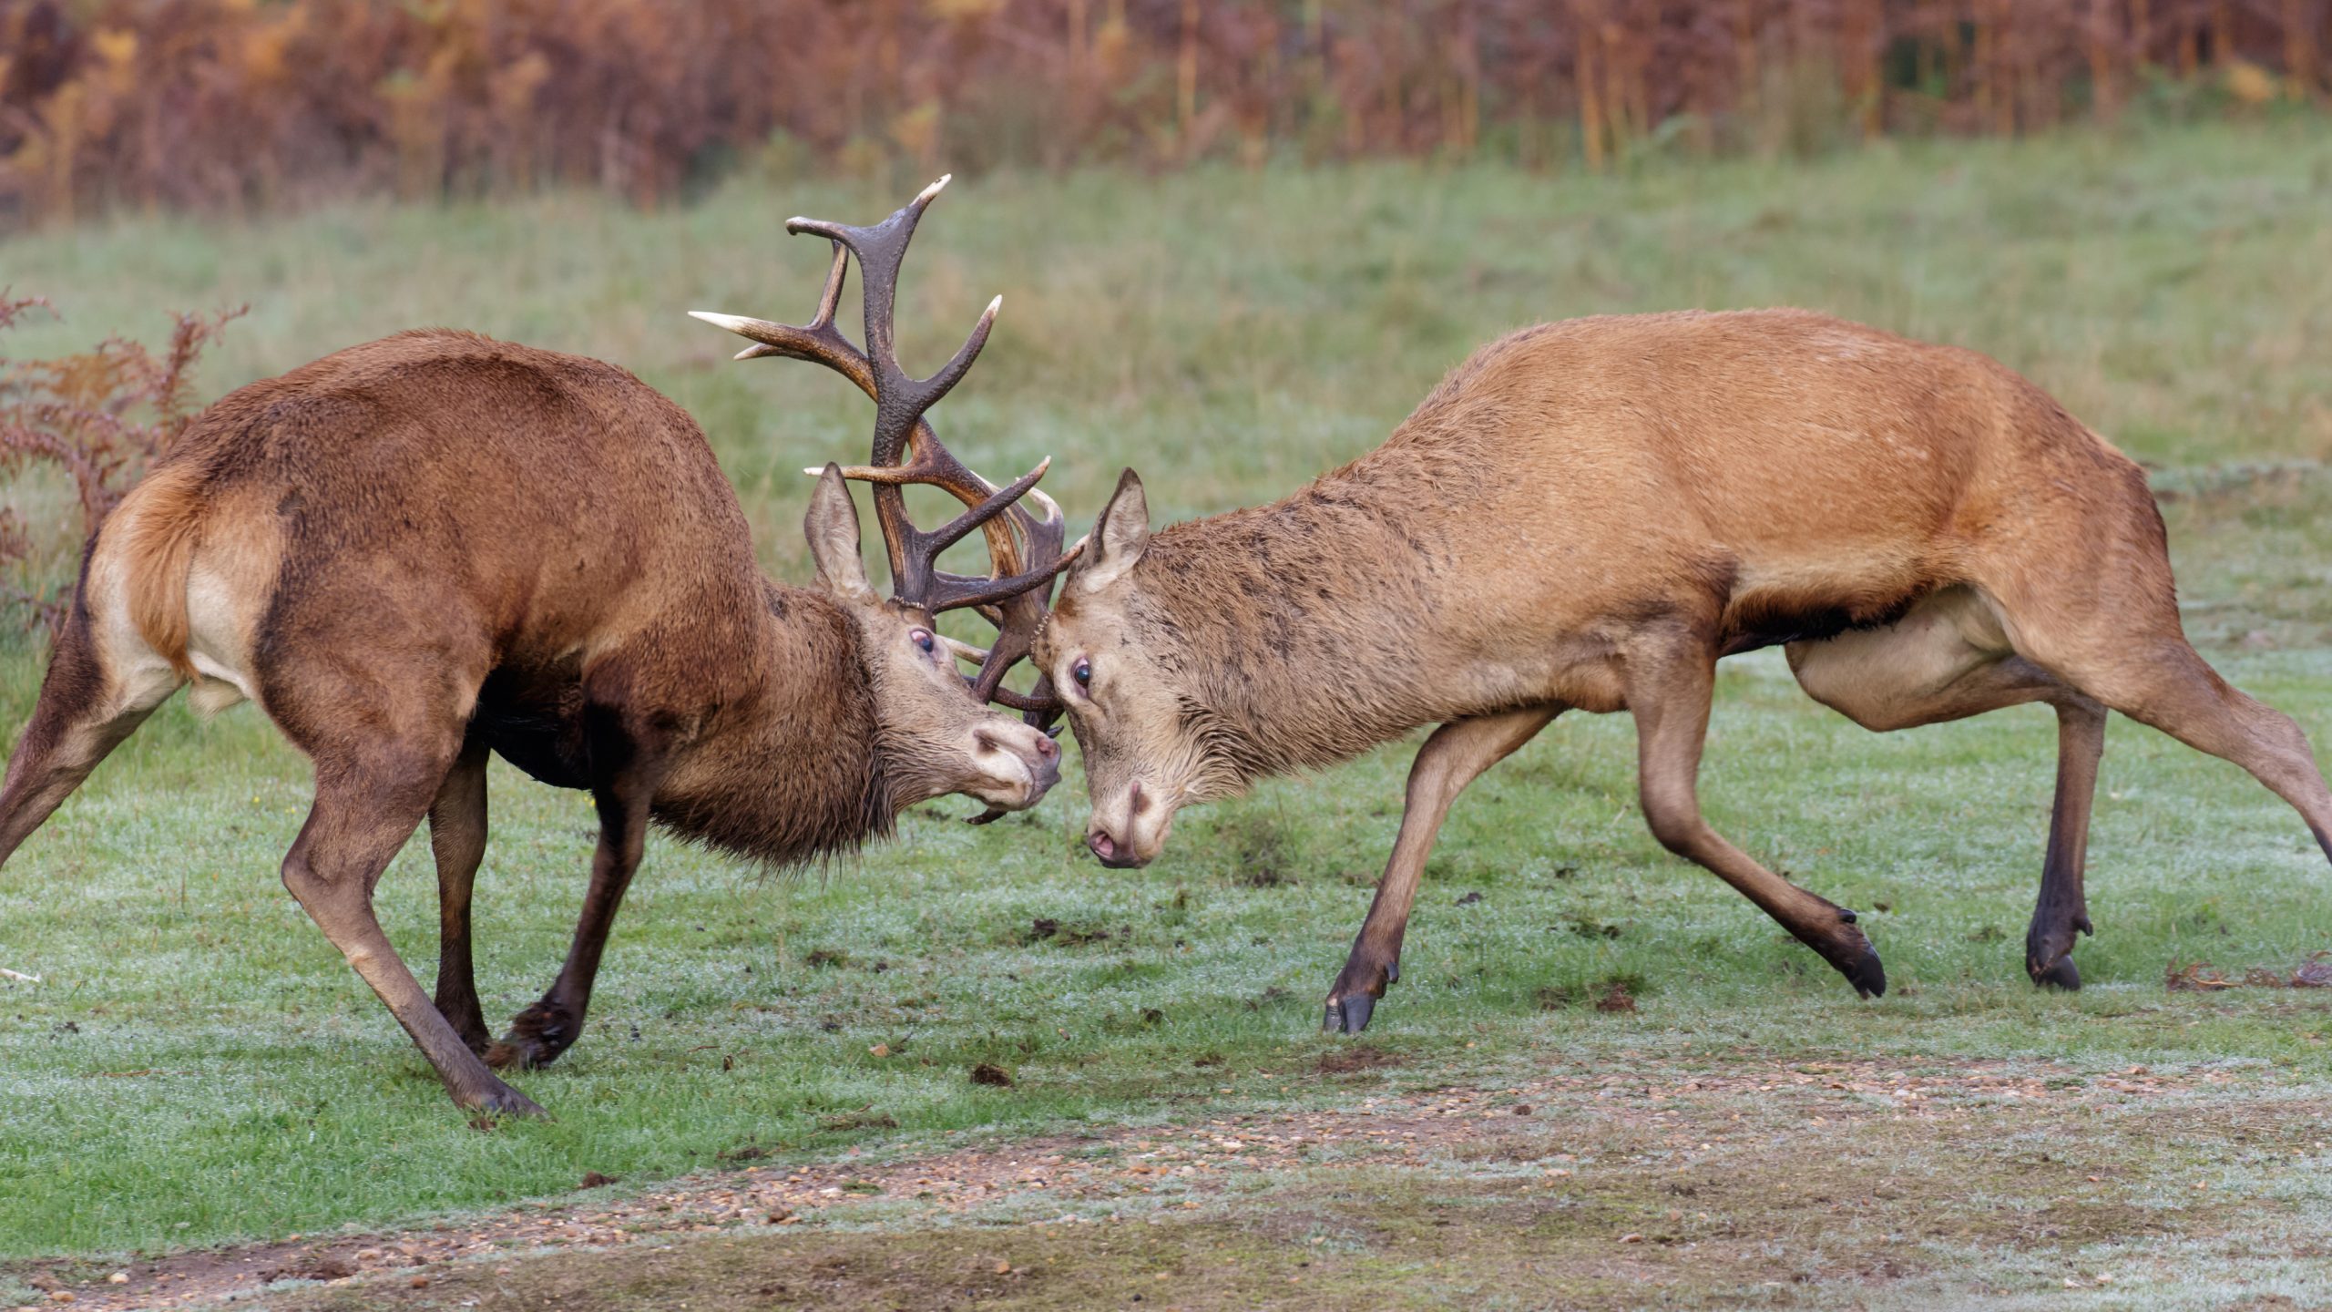
[[[1035,642],[1084,752],[1094,815],[1084,845],[1103,866],[1147,866],[1182,805],[1238,791],[1245,770],[1210,733],[1201,672],[1161,642],[1136,565],[1150,546],[1150,502],[1133,469],[1080,549],[1082,560]]]

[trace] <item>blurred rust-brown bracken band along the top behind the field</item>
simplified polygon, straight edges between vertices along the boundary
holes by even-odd
[[[2332,82],[2332,0],[0,0],[0,222],[1199,159],[1611,168]]]

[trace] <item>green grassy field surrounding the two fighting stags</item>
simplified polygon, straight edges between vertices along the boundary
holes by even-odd
[[[863,448],[868,406],[805,364],[730,364],[735,341],[681,310],[805,317],[823,247],[784,238],[786,215],[870,219],[909,191],[737,184],[660,215],[543,198],[21,236],[0,243],[5,280],[70,317],[9,348],[154,336],[166,308],[250,301],[208,364],[210,390],[415,324],[616,360],[700,418],[767,565],[800,579],[795,469]],[[958,182],[933,210],[900,317],[909,367],[930,369],[1005,292],[989,355],[937,423],[991,476],[1054,453],[1047,486],[1080,521],[1126,462],[1161,521],[1273,497],[1378,441],[1471,346],[1532,320],[1800,303],[1975,346],[2155,469],[2190,633],[2332,749],[2325,212],[2332,133],[2297,124],[1621,180],[1397,166],[996,177]],[[37,479],[5,495],[28,514],[58,507]],[[65,551],[58,539],[58,563]],[[35,651],[0,654],[12,731],[37,677]],[[1740,1261],[1709,1265],[1719,1235],[1684,1230],[1630,1258],[1667,1263],[1653,1275],[1681,1305],[2278,1307],[2332,1277],[2320,1244],[2292,1240],[2332,1219],[2323,995],[2164,990],[2176,962],[2239,976],[2332,948],[2323,857],[2232,766],[2115,721],[2089,861],[2099,936],[2078,950],[2089,988],[2040,995],[2024,980],[2022,927],[2050,717],[1880,738],[1807,703],[1777,654],[1728,661],[1707,812],[1807,887],[1866,908],[1889,995],[1856,1002],[1747,901],[1660,852],[1635,805],[1630,724],[1579,717],[1458,805],[1404,980],[1369,1032],[1385,1060],[1329,1076],[1341,1048],[1313,1032],[1318,1002],[1392,840],[1411,752],[1194,812],[1168,857],[1133,873],[1082,854],[1075,766],[1033,815],[970,829],[956,817],[972,805],[928,805],[898,843],[800,875],[651,843],[590,1032],[520,1081],[555,1121],[476,1132],[275,878],[305,812],[298,756],[250,707],[203,724],[175,703],[0,871],[0,966],[44,978],[0,980],[0,1258],[14,1263],[0,1265],[0,1305],[128,1251],[562,1198],[585,1172],[639,1188],[739,1156],[1117,1142],[1126,1128],[1614,1072],[1707,1081],[1674,1125],[1742,1146],[1709,1191],[1721,1207],[1674,1205],[1686,1230],[1681,1216],[1728,1216]],[[497,766],[478,894],[490,1018],[555,971],[590,840],[581,794]],[[427,976],[424,845],[387,873],[380,903]],[[1632,1011],[1595,1006],[1611,985]],[[1863,1100],[1814,1132],[1817,1109],[1723,1079],[1849,1060],[1880,1062],[1880,1083],[1999,1069],[2096,1090],[2145,1067],[2166,1086],[2134,1109],[2073,1097],[2045,1116],[1978,1100],[1966,1116],[1905,1121]],[[977,1062],[1017,1083],[972,1083]],[[1012,1230],[1026,1261],[1061,1277],[979,1298],[1084,1305],[1124,1263],[1189,1275],[1229,1244],[1262,1256],[1236,1279],[1206,1268],[1222,1279],[1171,1289],[1320,1307],[1360,1286],[1397,1286],[1392,1305],[1625,1305],[1635,1277],[1602,1247],[1611,1230],[1651,1240],[1667,1223],[1665,1139],[1572,1086],[1537,1100],[1527,1123],[1541,1137],[1490,1160],[1537,1170],[1602,1153],[1609,1172],[1579,1172],[1583,1209],[1548,1219],[1548,1202],[1453,1144],[1341,1174],[1304,1160],[1194,1212],[1180,1195],[1110,1202],[1178,1209],[1150,1216],[1161,1228],[1133,1249],[1077,1228]],[[1819,1144],[1835,1158],[1810,1153]],[[2108,1181],[2089,1181],[2110,1193],[2106,1212],[2050,1221],[2036,1163],[2082,1163],[2082,1179]],[[1868,1212],[1838,1219],[1854,1198]],[[972,1261],[949,1235],[1040,1219],[1035,1202],[998,1207],[868,1205],[721,1240],[758,1256],[681,1244],[658,1261],[872,1263],[898,1279],[837,1277],[812,1300],[937,1305],[968,1289],[949,1284],[947,1263]],[[1334,1219],[1353,1209],[1367,1226]],[[1287,1214],[1329,1219],[1273,1228]],[[1273,1265],[1304,1244],[1320,1249],[1318,1272]],[[1462,1268],[1467,1254],[1481,1263],[1469,1277],[1437,1275],[1432,1263]],[[520,1275],[399,1296],[623,1303],[585,1258],[508,1270]],[[2115,1270],[2117,1284],[2094,1282]],[[1546,1296],[1485,1293],[1516,1289],[1516,1272],[1537,1272]],[[2073,1277],[2085,1293],[2064,1289]],[[800,1289],[742,1284],[735,1298]]]

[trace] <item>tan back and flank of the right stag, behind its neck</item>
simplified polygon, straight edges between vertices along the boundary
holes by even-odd
[[[1698,572],[1751,609],[1821,595],[1868,619],[1859,598],[1884,612],[1936,586],[2099,472],[2143,500],[2134,462],[1985,355],[1737,310],[1516,332],[1320,486],[1453,560],[1499,560],[1504,598],[1516,570],[1581,602]]]

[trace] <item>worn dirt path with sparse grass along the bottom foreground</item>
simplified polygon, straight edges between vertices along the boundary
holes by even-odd
[[[1322,1081],[1378,1086],[1367,1067],[1381,1060],[1334,1053]],[[1723,1291],[1824,1303],[1840,1279],[1861,1291],[1854,1305],[1996,1279],[2136,1289],[2148,1247],[2271,1228],[2278,1205],[2253,1200],[2236,1219],[2211,1191],[2229,1172],[2313,1170],[2327,1121],[2325,1100],[2260,1069],[1623,1067],[1353,1088],[1327,1109],[944,1153],[742,1163],[413,1230],[16,1277],[89,1310],[632,1307],[660,1293],[688,1307],[1329,1307],[1346,1282],[1385,1279],[1388,1261],[1430,1272],[1434,1254],[1460,1251],[1476,1275],[1506,1270],[1565,1305],[1644,1282],[1684,1305]],[[2089,1270],[2089,1251],[2122,1254],[2124,1270]],[[1145,1296],[1140,1279],[1157,1286]]]

